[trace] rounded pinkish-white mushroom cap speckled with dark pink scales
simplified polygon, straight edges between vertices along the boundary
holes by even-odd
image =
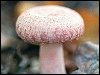
[[[84,32],[84,21],[74,10],[57,5],[33,7],[16,22],[17,34],[30,43],[63,43]]]

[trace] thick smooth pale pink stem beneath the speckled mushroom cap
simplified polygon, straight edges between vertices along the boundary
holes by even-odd
[[[41,74],[66,74],[62,44],[41,44]]]

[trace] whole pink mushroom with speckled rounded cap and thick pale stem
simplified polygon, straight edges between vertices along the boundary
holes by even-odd
[[[45,5],[23,12],[16,22],[16,31],[23,40],[40,44],[42,74],[65,74],[62,43],[82,35],[84,22],[72,9]]]

